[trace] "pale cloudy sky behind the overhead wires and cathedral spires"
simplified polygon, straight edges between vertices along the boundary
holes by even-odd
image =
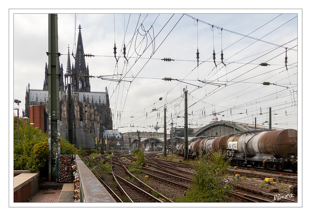
[[[31,89],[43,88],[49,12],[14,10],[12,15],[10,71],[14,72],[13,97],[21,100],[20,110],[25,109],[28,83]],[[81,25],[84,53],[95,55],[85,58],[90,75],[116,75],[121,80],[90,79],[91,91],[103,92],[107,87],[113,126],[120,132],[155,131],[157,123],[163,132],[164,106],[167,124],[184,126],[184,89],[188,90],[191,128],[209,124],[213,111],[219,120],[254,124],[256,117],[257,125],[268,126],[271,107],[272,127],[298,129],[302,79],[299,10],[56,12],[64,73],[68,45],[70,54],[75,54]],[[73,56],[70,61],[74,64]],[[269,65],[260,66],[262,62]],[[177,80],[164,81],[164,77]]]

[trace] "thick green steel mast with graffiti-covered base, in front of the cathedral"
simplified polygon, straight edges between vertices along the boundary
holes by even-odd
[[[59,71],[57,14],[49,14],[49,182],[57,182],[56,155],[60,154]]]

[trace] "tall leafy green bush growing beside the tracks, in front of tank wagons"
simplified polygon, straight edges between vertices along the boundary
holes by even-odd
[[[186,192],[186,196],[176,198],[175,202],[226,202],[229,190],[226,181],[231,181],[228,174],[229,162],[224,160],[222,151],[210,151],[195,161],[196,175]]]

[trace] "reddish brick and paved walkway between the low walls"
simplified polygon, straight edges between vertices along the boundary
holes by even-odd
[[[74,184],[64,183],[61,190],[39,190],[29,202],[32,203],[71,203],[74,195]]]

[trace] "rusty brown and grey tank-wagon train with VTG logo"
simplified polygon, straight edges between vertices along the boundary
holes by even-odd
[[[184,154],[184,144],[176,146]],[[188,142],[190,157],[211,150],[227,151],[233,166],[297,171],[297,130],[254,131]]]

